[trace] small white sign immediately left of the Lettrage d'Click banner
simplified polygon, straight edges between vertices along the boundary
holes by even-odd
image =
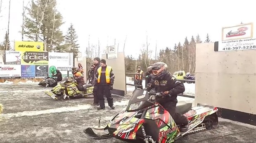
[[[21,65],[21,52],[5,51],[5,65]]]

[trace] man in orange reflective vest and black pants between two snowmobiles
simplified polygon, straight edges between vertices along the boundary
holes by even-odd
[[[115,109],[113,105],[113,98],[111,97],[110,93],[110,91],[113,90],[115,78],[114,72],[112,70],[112,67],[106,65],[106,60],[100,60],[100,65],[101,67],[99,67],[99,69],[97,70],[94,81],[94,83],[96,83],[98,87],[97,96],[100,103],[100,106],[97,109],[101,110],[105,108],[104,95],[107,97],[109,107],[111,109]]]

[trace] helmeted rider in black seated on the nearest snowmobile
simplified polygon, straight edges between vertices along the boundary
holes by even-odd
[[[171,75],[164,62],[156,62],[148,70],[152,71],[152,82],[147,86],[147,91],[154,88],[156,92],[163,92],[163,97],[156,100],[171,114],[175,123],[180,125],[180,131],[187,131],[189,122],[186,116],[175,113],[177,95],[185,91],[183,83]]]

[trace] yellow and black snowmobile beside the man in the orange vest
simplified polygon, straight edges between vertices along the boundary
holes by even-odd
[[[64,77],[59,85],[56,85],[52,90],[46,91],[45,94],[52,97],[53,99],[64,100],[72,97],[93,97],[93,85],[84,84],[84,91],[79,91],[77,88],[77,82],[73,77]]]

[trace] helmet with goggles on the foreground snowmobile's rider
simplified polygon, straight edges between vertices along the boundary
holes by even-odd
[[[167,74],[167,65],[164,62],[156,62],[153,65],[150,65],[147,69],[148,71],[152,71],[152,79],[162,78],[164,75]]]

